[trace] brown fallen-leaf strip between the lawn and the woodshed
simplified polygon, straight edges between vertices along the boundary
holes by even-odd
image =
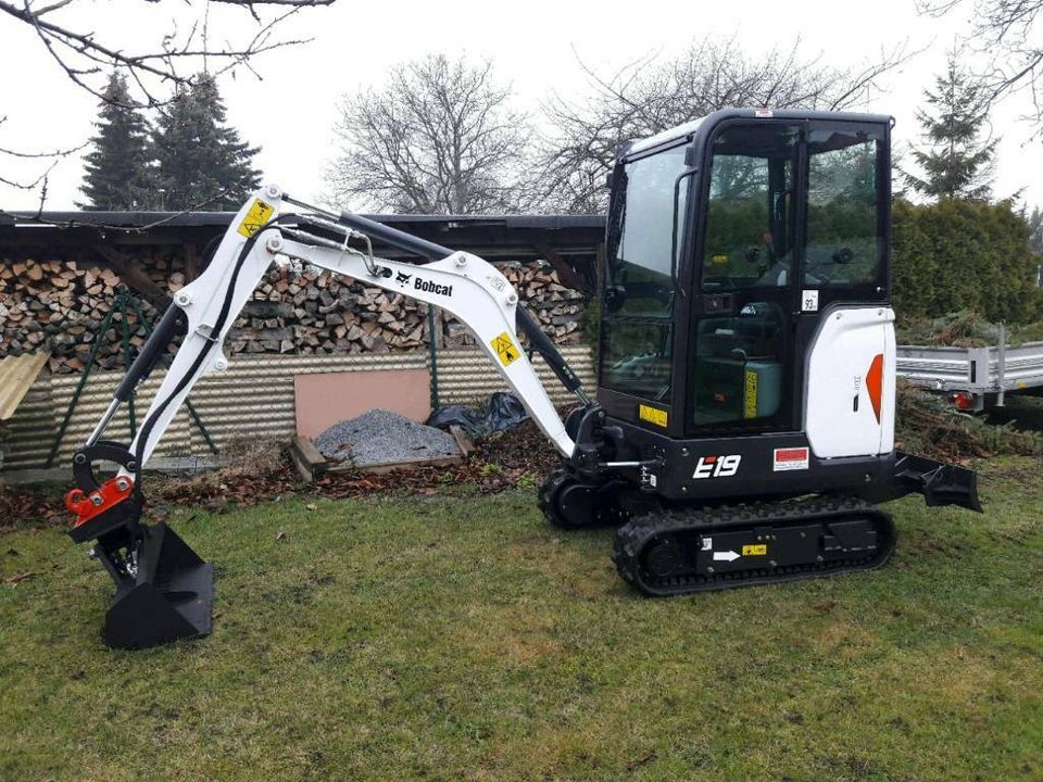
[[[460,465],[382,475],[338,471],[310,484],[301,481],[285,450],[273,446],[252,452],[213,472],[189,477],[149,476],[146,514],[150,520],[162,520],[167,505],[199,505],[223,512],[299,492],[335,499],[378,493],[430,495],[447,487],[469,485],[481,494],[489,494],[524,479],[541,481],[556,464],[556,452],[531,420],[477,443]],[[26,522],[66,525],[70,514],[53,490],[0,484],[0,531]]]

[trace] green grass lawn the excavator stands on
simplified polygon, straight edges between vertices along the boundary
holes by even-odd
[[[882,570],[673,600],[531,489],[175,508],[214,633],[137,653],[85,547],[0,534],[0,780],[1043,780],[1043,463],[981,471]]]

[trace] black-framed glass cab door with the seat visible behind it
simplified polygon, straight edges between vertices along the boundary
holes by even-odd
[[[709,140],[688,335],[689,436],[797,424],[802,127],[738,121]]]

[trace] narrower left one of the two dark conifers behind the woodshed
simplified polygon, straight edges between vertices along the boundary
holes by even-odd
[[[147,209],[151,200],[152,168],[148,150],[149,124],[133,105],[126,77],[113,74],[102,93],[101,111],[87,153],[85,210]]]

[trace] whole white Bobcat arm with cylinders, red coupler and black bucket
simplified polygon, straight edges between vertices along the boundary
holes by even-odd
[[[302,209],[286,212],[286,205]],[[415,265],[375,257],[372,238],[435,260]],[[97,540],[92,555],[116,582],[104,632],[112,646],[149,646],[210,630],[212,568],[164,525],[140,522],[142,471],[196,382],[227,369],[224,340],[273,261],[311,264],[451,313],[475,333],[548,439],[564,457],[573,456],[575,443],[522,350],[517,328],[566,388],[588,406],[589,400],[495,267],[356,215],[334,215],[294,201],[277,187],[262,188],[236,214],[203,274],[174,295],[102,419],[74,456],[77,488],[66,496],[66,505],[76,521],[70,534],[77,542]],[[125,447],[103,440],[120,405],[180,333],[184,339],[134,441]],[[116,463],[120,470],[99,482],[96,463],[102,461]]]

